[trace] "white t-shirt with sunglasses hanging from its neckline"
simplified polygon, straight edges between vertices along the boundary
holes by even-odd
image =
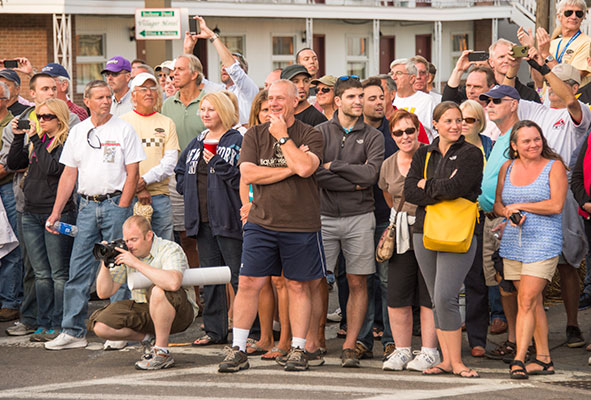
[[[100,148],[91,147],[89,142]],[[132,126],[112,116],[98,127],[94,127],[90,118],[74,126],[64,145],[60,163],[78,169],[78,193],[95,196],[123,190],[127,177],[125,166],[145,158]]]

